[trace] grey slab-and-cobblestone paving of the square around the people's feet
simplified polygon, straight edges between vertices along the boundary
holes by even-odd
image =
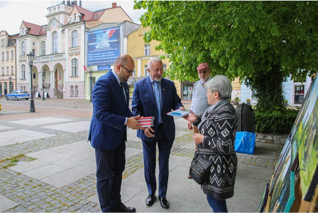
[[[13,114],[20,118],[0,121],[0,138],[4,138],[0,143],[0,212],[100,212],[94,149],[86,143],[90,119],[63,115],[23,118],[28,115]],[[176,139],[169,160],[169,209],[162,209],[157,199],[146,207],[142,143],[136,131],[128,130],[121,195],[122,201],[137,212],[212,211],[200,186],[187,178],[194,152],[192,133],[184,119],[175,119],[175,123]],[[257,211],[281,149],[279,144],[256,143],[254,155],[238,153],[235,193],[227,200],[229,212]],[[6,167],[13,162],[17,165]],[[156,172],[158,177],[158,169]]]

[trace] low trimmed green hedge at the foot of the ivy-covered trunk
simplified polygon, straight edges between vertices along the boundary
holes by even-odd
[[[258,112],[255,110],[256,131],[288,134],[296,120],[298,110]]]

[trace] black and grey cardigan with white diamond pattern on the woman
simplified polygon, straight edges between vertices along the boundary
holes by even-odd
[[[198,151],[207,159],[216,153],[219,155],[212,164],[210,180],[203,186],[203,192],[219,200],[228,199],[234,194],[238,162],[234,141],[238,119],[232,104],[225,105],[209,116],[199,129],[204,138],[203,143],[198,144]]]

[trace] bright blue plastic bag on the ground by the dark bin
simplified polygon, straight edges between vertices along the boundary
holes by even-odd
[[[248,131],[236,132],[235,152],[254,154],[255,150],[255,133]]]

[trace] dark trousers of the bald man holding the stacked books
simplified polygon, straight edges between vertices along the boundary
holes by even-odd
[[[96,188],[102,212],[121,204],[121,178],[125,170],[125,140],[114,150],[95,148]]]

